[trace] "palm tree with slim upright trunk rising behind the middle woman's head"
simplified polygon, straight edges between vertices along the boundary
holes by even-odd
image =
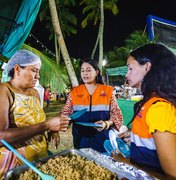
[[[99,45],[99,67],[102,69],[103,64],[103,33],[104,33],[104,10],[111,10],[114,15],[118,13],[118,7],[116,5],[117,0],[82,0],[81,5],[85,5],[83,14],[87,13],[87,16],[82,21],[81,25],[85,28],[89,21],[94,20],[94,25],[100,20],[99,31],[95,46],[92,51],[91,57],[94,58],[97,46]]]

